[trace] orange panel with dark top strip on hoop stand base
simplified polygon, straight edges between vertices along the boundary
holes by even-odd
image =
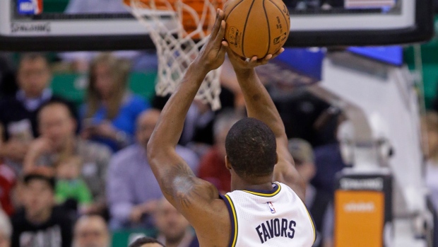
[[[342,175],[334,198],[336,247],[386,247],[392,236],[391,176]]]

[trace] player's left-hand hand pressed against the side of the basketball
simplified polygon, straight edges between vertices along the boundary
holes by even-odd
[[[225,35],[223,16],[223,11],[218,9],[210,38],[208,38],[206,45],[203,45],[201,52],[195,59],[195,63],[198,64],[199,68],[206,69],[206,72],[218,69],[225,60],[225,48],[228,43],[223,40]]]

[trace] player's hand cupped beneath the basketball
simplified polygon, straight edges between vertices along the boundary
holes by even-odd
[[[271,59],[277,57],[284,50],[285,49],[282,47],[275,54],[267,54],[266,57],[261,59],[255,56],[251,57],[251,59],[245,59],[244,57],[240,57],[238,54],[233,52],[230,48],[227,48],[227,54],[232,64],[232,67],[235,69],[236,72],[238,72],[247,69],[254,69],[257,66],[267,64],[269,61],[271,61]]]

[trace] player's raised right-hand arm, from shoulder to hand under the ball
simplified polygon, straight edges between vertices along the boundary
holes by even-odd
[[[264,122],[276,135],[278,163],[274,168],[274,180],[289,185],[304,200],[305,183],[295,169],[295,163],[288,151],[288,137],[283,121],[254,69],[256,66],[266,64],[281,52],[283,48],[273,56],[268,54],[264,59],[253,57],[250,61],[244,61],[231,50],[228,50],[227,54],[235,69],[239,86],[242,88],[248,116]]]

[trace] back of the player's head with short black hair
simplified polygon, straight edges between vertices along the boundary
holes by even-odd
[[[251,117],[236,122],[225,140],[228,161],[242,178],[272,174],[277,163],[276,149],[276,136],[272,130]]]

